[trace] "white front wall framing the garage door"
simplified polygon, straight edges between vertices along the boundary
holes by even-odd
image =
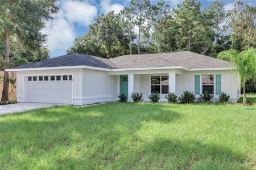
[[[27,76],[44,76],[44,75],[72,75],[72,100],[73,104],[77,103],[77,96],[82,94],[82,69],[65,69],[65,70],[40,70],[40,71],[17,71],[16,73],[16,92],[18,102],[27,102]],[[31,84],[30,84],[31,85]],[[35,84],[36,86],[36,84]],[[60,96],[61,97],[61,96]],[[61,100],[61,99],[60,99]],[[49,103],[51,101],[49,99]]]

